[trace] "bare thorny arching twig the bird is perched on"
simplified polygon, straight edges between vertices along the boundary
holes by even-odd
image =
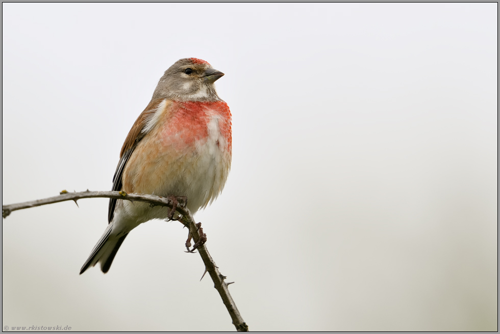
[[[160,205],[172,208],[173,202],[171,199],[166,197],[160,197],[156,195],[146,195],[139,193],[126,193],[124,191],[81,191],[81,192],[67,192],[66,190],[61,191],[59,196],[49,197],[42,200],[36,200],[31,202],[23,202],[23,203],[15,203],[10,205],[2,205],[2,217],[7,217],[12,213],[12,211],[33,208],[36,206],[53,204],[64,201],[74,201],[84,199],[84,198],[114,198],[118,200],[129,200],[129,201],[138,201],[138,202],[146,202],[151,203],[153,205]],[[194,242],[196,243],[200,239],[200,232],[198,231],[198,227],[195,224],[193,215],[186,207],[186,201],[183,200],[182,197],[177,198],[178,207],[177,212],[179,212],[182,217],[180,221],[184,226],[189,228],[191,235],[193,236]],[[77,204],[78,205],[78,204]],[[199,229],[201,230],[201,229]],[[202,232],[203,233],[203,232]],[[219,292],[220,297],[222,298],[222,302],[226,305],[228,309],[229,315],[233,320],[233,324],[238,331],[248,331],[248,326],[243,321],[238,308],[236,307],[236,303],[234,302],[231,294],[229,293],[228,286],[231,283],[226,283],[224,280],[226,276],[223,276],[218,267],[215,265],[215,261],[212,259],[210,254],[208,253],[208,249],[205,245],[201,245],[198,248],[199,255],[202,257],[203,263],[205,264],[205,269],[210,274],[212,281],[214,282],[214,288]]]

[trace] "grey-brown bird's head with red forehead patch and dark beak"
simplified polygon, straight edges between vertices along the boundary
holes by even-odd
[[[220,101],[214,82],[222,75],[204,60],[180,59],[160,78],[152,99]]]

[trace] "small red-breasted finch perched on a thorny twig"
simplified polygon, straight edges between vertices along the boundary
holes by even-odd
[[[185,196],[194,214],[222,191],[231,169],[231,112],[215,91],[224,73],[185,58],[165,71],[120,152],[113,190]],[[111,199],[109,225],[80,270],[108,272],[123,240],[139,224],[171,218],[170,209]],[[173,212],[172,212],[173,213]]]

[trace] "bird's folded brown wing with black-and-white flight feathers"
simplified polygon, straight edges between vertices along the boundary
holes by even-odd
[[[116,172],[113,176],[113,191],[121,190],[122,182],[121,177],[123,175],[123,171],[125,170],[125,166],[127,165],[127,161],[131,157],[134,149],[137,147],[137,143],[139,143],[142,138],[146,135],[145,132],[142,132],[142,129],[146,126],[147,121],[150,117],[152,117],[158,105],[163,101],[163,99],[156,99],[149,102],[144,111],[139,115],[134,125],[132,125],[132,129],[130,129],[123,146],[121,147],[120,152],[120,161],[118,162],[118,166],[116,166]],[[113,213],[115,211],[116,200],[109,200],[109,208],[108,208],[108,224],[113,219]]]

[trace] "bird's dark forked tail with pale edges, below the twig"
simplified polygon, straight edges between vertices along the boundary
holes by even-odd
[[[112,232],[113,222],[108,225],[108,228],[104,231],[103,236],[97,244],[92,249],[89,258],[85,261],[82,269],[80,270],[80,274],[84,273],[85,270],[90,266],[95,266],[97,262],[101,263],[101,270],[104,273],[107,273],[109,268],[111,267],[111,263],[113,263],[113,259],[115,258],[116,252],[121,246],[121,243],[127,237],[128,233],[123,234],[121,236],[115,235]]]

